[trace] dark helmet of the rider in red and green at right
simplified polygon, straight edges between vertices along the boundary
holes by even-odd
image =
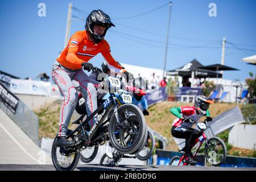
[[[210,98],[199,95],[196,96],[195,99],[195,109],[201,114],[201,115],[205,115],[207,113],[207,109],[209,107],[209,105],[213,103],[212,100],[210,100]]]

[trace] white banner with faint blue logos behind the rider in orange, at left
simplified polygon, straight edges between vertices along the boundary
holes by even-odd
[[[30,94],[39,96],[51,95],[51,82],[35,80],[11,79],[10,90],[17,94]]]

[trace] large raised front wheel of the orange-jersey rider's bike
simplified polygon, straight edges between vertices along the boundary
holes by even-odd
[[[139,107],[132,104],[118,107],[117,112],[123,127],[119,126],[113,114],[109,122],[110,142],[122,154],[131,154],[144,144],[146,121]]]

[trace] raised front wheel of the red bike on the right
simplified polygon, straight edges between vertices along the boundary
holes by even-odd
[[[212,166],[220,166],[226,159],[226,145],[218,137],[212,137],[206,141],[205,158]]]

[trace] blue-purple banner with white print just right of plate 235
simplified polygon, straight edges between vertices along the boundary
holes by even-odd
[[[152,90],[146,93],[145,98],[148,106],[154,105],[160,101],[165,101],[167,98],[166,88],[161,87],[159,89]]]

